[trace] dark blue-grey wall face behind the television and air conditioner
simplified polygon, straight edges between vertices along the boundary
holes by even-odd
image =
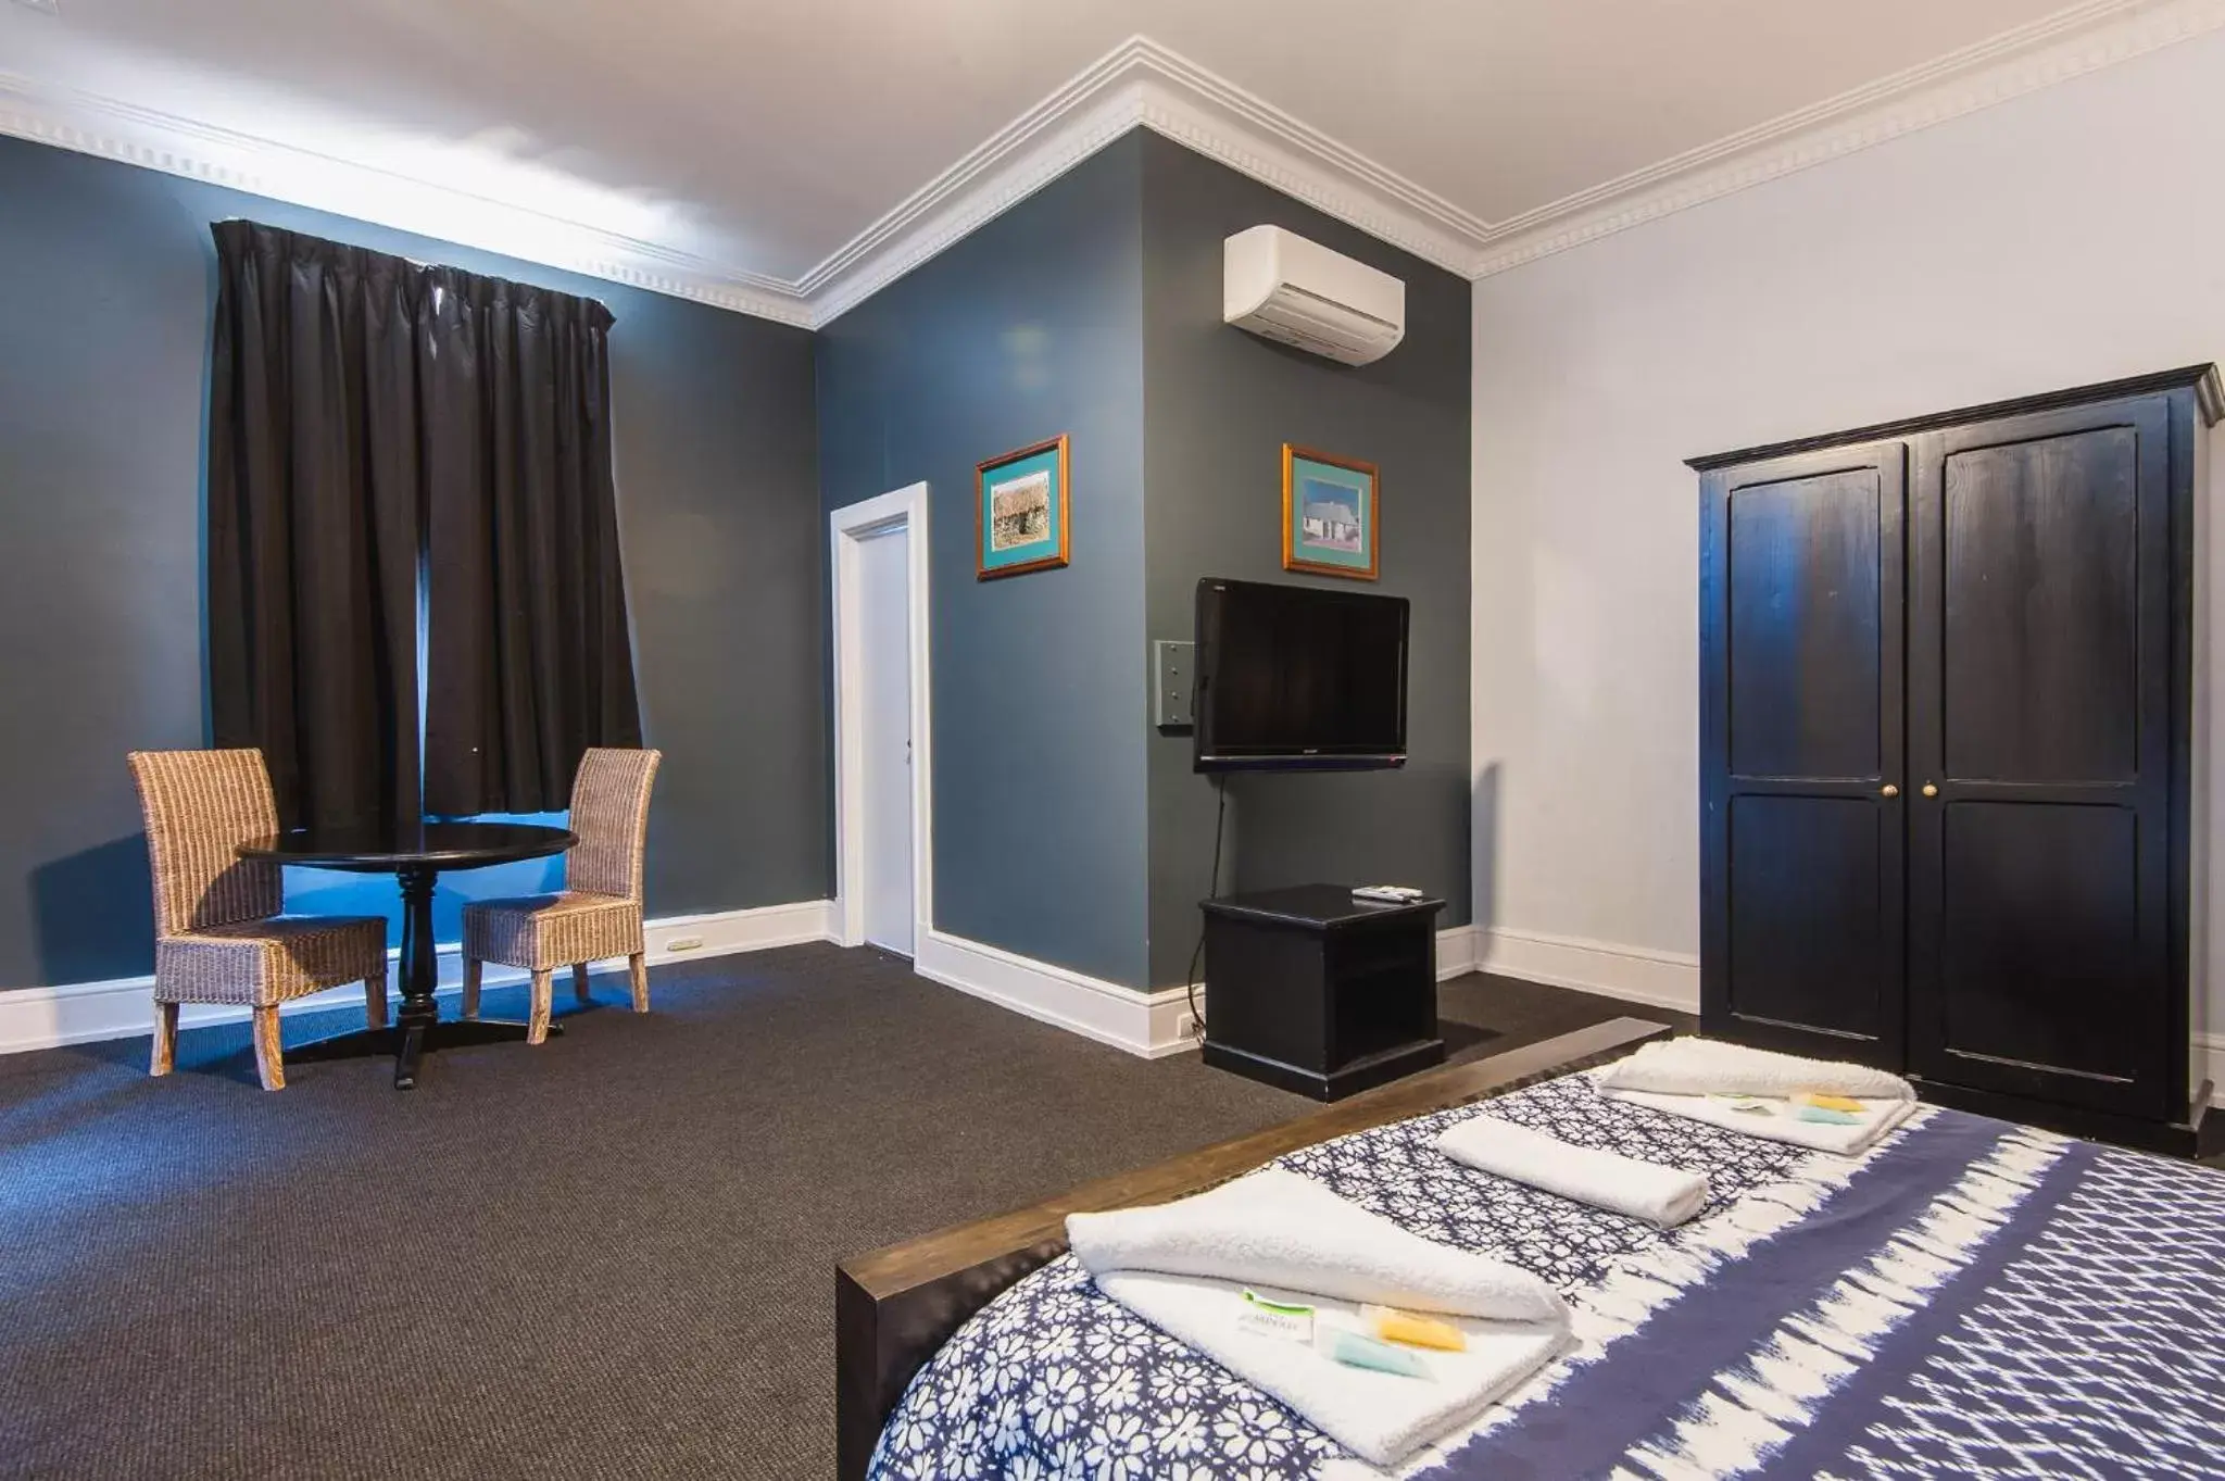
[[[1224,887],[1408,883],[1468,921],[1468,282],[1159,136],[1144,165],[1146,614],[1188,638],[1199,576],[1351,585],[1413,600],[1402,772],[1228,785]],[[1406,282],[1406,340],[1344,367],[1222,322],[1222,242],[1270,222]],[[1282,445],[1382,469],[1382,578],[1282,569]],[[1141,714],[1144,692],[1135,707]],[[1188,981],[1213,863],[1190,738],[1148,740],[1150,981]]]

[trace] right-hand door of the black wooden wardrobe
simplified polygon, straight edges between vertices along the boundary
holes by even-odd
[[[2103,1112],[2185,1110],[2167,1105],[2167,400],[1914,449],[1909,1065]]]

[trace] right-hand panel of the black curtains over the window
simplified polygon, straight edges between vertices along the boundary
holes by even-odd
[[[427,278],[425,809],[554,812],[585,747],[641,745],[610,309],[447,267]]]

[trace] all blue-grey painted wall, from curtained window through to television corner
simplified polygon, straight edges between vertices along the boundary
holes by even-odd
[[[1468,907],[1468,285],[1135,131],[821,334],[0,140],[0,987],[151,965],[131,747],[207,740],[214,251],[254,216],[612,305],[621,536],[650,740],[650,910],[832,894],[825,509],[930,485],[934,923],[1128,987],[1184,978],[1213,843],[1148,643],[1202,574],[1282,578],[1279,447],[1382,465],[1415,600],[1413,765],[1237,783],[1237,887],[1400,878]],[[1219,322],[1279,222],[1397,274],[1408,338],[1335,367]],[[975,580],[975,465],[1072,443],[1072,565]],[[556,883],[532,863],[443,881]],[[387,883],[298,872],[305,910]]]

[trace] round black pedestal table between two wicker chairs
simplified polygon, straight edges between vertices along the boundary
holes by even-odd
[[[320,1058],[394,1056],[394,1090],[416,1090],[418,1061],[429,1050],[525,1038],[523,1023],[498,1018],[441,1021],[432,943],[432,885],[441,869],[485,869],[521,858],[563,854],[578,838],[538,823],[398,823],[392,827],[298,827],[240,845],[240,858],[267,858],[314,869],[392,874],[403,887],[403,1005],[394,1027],[358,1030],[287,1054]],[[550,1025],[552,1034],[563,1032]]]

